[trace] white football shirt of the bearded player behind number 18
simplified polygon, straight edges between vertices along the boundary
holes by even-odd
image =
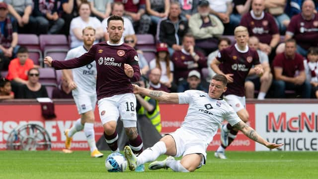
[[[77,58],[87,50],[84,46],[79,46],[77,48],[71,49],[65,60],[70,60],[73,58]],[[73,95],[79,94],[96,94],[96,78],[97,70],[96,70],[96,62],[95,60],[85,66],[79,68],[72,69],[73,81],[76,83],[77,88],[72,91]]]

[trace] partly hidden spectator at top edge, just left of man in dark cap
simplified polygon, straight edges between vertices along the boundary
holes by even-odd
[[[191,15],[198,12],[197,7],[199,2],[199,0],[179,0],[181,17],[189,20]]]

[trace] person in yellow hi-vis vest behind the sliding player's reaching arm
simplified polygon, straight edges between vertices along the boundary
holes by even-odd
[[[142,88],[146,88],[146,79],[141,77],[141,80],[137,82]],[[145,115],[151,123],[156,127],[157,131],[161,132],[161,116],[158,100],[152,99],[148,96],[135,94],[137,99],[136,111],[138,116]]]

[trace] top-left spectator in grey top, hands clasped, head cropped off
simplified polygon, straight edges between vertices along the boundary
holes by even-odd
[[[36,20],[31,16],[32,0],[4,0],[4,2],[8,5],[9,13],[19,25],[19,33],[36,33]]]

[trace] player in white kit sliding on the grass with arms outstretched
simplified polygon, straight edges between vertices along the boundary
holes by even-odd
[[[136,94],[147,95],[164,103],[189,104],[189,108],[180,128],[162,137],[159,142],[144,150],[138,157],[133,154],[129,146],[125,146],[124,153],[129,168],[133,170],[136,166],[154,161],[159,155],[165,154],[169,157],[163,161],[151,163],[149,169],[171,168],[175,172],[193,172],[205,164],[206,149],[224,119],[250,139],[270,149],[283,146],[283,144],[266,141],[253,128],[239,119],[233,108],[221,98],[226,90],[227,78],[222,74],[212,78],[208,94],[198,90],[166,93],[134,85]],[[182,159],[175,160],[171,156],[182,156]]]

